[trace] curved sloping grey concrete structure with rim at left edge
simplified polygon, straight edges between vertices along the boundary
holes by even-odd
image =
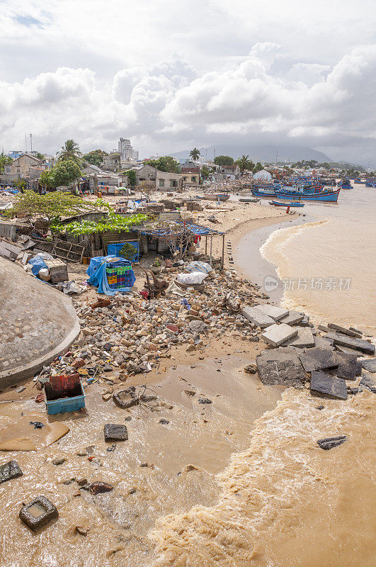
[[[79,330],[68,296],[0,257],[0,386],[50,364]]]

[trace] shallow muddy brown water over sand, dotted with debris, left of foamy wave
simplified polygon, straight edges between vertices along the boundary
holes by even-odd
[[[159,402],[130,410],[112,400],[105,403],[102,388],[90,386],[89,415],[57,416],[70,428],[67,435],[38,451],[1,452],[0,464],[15,459],[23,470],[22,477],[0,485],[1,566],[151,566],[157,558],[150,537],[156,520],[193,505],[216,505],[221,493],[217,473],[228,466],[232,453],[249,447],[253,421],[280,398],[282,388],[263,386],[244,374],[245,364],[249,359],[239,355],[170,369],[164,381],[151,386]],[[200,404],[199,398],[212,403]],[[44,408],[33,401],[0,403],[0,439],[21,413],[26,423],[29,414],[35,420],[38,412],[42,420]],[[117,442],[114,451],[107,451],[112,443],[103,438],[108,422],[128,429],[129,440]],[[43,429],[23,432],[18,425],[15,432],[38,444]],[[77,454],[86,447],[93,447],[91,461]],[[62,457],[64,464],[52,464]],[[114,490],[92,496],[75,481],[69,483],[73,478],[104,481]],[[59,520],[34,534],[18,512],[38,495],[57,506]],[[89,529],[86,536],[76,527]]]

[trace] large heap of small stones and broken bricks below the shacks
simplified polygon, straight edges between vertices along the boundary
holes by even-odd
[[[164,276],[173,283],[176,274],[171,270]],[[81,334],[70,352],[52,365],[52,372],[79,371],[90,383],[94,376],[118,371],[121,379],[157,368],[179,344],[194,352],[222,335],[258,341],[260,330],[239,306],[255,305],[263,297],[258,286],[234,270],[212,270],[203,291],[188,287],[149,301],[136,292],[91,305],[75,301]]]

